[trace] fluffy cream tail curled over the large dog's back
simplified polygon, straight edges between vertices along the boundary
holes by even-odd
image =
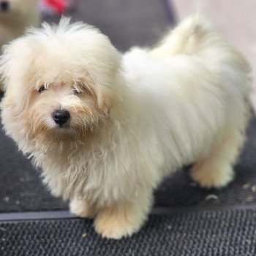
[[[183,20],[148,53],[154,59],[167,59],[178,54],[195,56],[220,77],[229,76],[230,81],[234,78],[246,80],[248,73],[251,72],[251,67],[244,56],[219,34],[210,20],[201,14]],[[234,84],[237,84],[237,81],[236,83],[234,81]],[[247,85],[249,84],[248,82]],[[249,87],[246,85],[243,87],[248,92]]]

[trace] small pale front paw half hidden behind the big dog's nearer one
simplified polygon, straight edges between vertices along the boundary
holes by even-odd
[[[69,203],[69,211],[79,217],[94,217],[94,207],[85,200],[73,199]]]

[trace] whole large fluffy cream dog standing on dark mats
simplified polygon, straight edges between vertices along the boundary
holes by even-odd
[[[200,15],[154,49],[122,55],[83,23],[44,23],[1,57],[4,129],[55,196],[106,238],[139,230],[153,190],[194,163],[224,187],[245,139],[249,64]]]

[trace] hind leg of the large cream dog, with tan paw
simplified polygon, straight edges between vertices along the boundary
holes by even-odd
[[[210,154],[195,164],[191,176],[200,187],[221,188],[233,180],[233,165],[238,159],[244,138],[244,132],[239,129],[227,130],[221,142],[211,149]]]

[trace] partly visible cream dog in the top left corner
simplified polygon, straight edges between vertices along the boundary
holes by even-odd
[[[39,26],[37,4],[38,0],[0,0],[0,50],[27,26]]]

